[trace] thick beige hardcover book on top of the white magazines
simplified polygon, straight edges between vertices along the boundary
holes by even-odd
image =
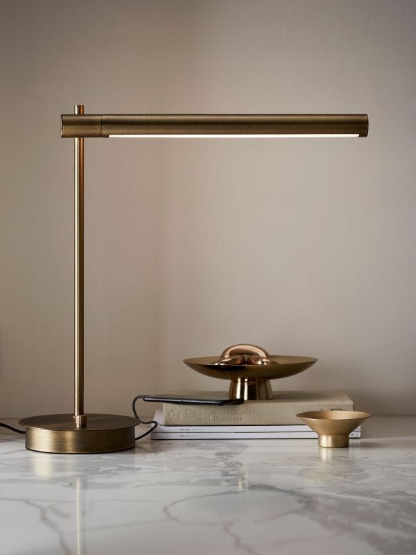
[[[198,398],[212,398],[217,392],[187,392]],[[267,401],[245,401],[243,404],[208,406],[163,404],[164,426],[259,426],[302,425],[297,413],[354,410],[354,403],[345,391],[279,391]]]

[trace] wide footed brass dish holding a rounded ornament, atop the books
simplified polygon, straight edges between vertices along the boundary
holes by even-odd
[[[220,357],[185,359],[184,363],[205,376],[229,379],[230,399],[272,399],[270,379],[299,374],[318,359],[268,355],[257,345],[232,345]]]

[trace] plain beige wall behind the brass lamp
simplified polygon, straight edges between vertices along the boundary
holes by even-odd
[[[60,114],[368,112],[367,139],[87,140],[86,400],[225,386],[182,359],[320,359],[275,388],[415,412],[414,1],[0,1],[0,414],[71,411]]]

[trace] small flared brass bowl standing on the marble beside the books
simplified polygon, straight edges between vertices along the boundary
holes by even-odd
[[[348,447],[349,434],[371,414],[360,411],[309,411],[296,416],[318,434],[320,447]]]

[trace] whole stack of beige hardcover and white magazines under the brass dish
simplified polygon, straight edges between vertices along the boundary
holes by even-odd
[[[187,392],[187,395],[190,393]],[[197,398],[216,398],[218,392],[193,392]],[[268,401],[236,405],[164,403],[155,413],[158,426],[152,439],[311,439],[317,438],[297,418],[304,411],[354,410],[344,391],[279,391]],[[360,429],[350,438],[360,438]]]

